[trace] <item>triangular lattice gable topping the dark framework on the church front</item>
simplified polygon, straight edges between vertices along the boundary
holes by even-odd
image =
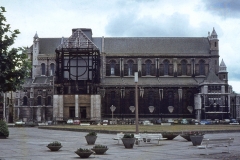
[[[57,49],[61,48],[92,48],[98,50],[98,47],[83,33],[81,29],[76,29],[73,34],[63,43],[61,43]]]

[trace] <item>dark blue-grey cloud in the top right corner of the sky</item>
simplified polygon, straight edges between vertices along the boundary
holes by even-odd
[[[239,18],[239,0],[203,0],[205,9],[223,18]]]

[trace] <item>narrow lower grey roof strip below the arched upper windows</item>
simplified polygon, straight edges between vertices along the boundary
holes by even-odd
[[[134,86],[134,77],[106,77],[102,79],[102,86]],[[192,86],[196,87],[199,82],[192,77],[141,77],[138,79],[139,86]]]

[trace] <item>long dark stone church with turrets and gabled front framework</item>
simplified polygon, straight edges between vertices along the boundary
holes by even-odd
[[[14,97],[14,119],[45,122],[135,119],[240,119],[213,28],[206,37],[40,38],[27,50],[32,75]],[[8,101],[6,99],[6,101]],[[8,109],[6,105],[6,112]],[[9,115],[9,114],[7,114]]]

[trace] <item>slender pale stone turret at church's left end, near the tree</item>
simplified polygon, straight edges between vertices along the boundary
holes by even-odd
[[[39,54],[39,37],[37,33],[33,37],[33,56],[32,56],[32,78],[34,78],[37,74],[36,69],[38,66],[38,54]]]

